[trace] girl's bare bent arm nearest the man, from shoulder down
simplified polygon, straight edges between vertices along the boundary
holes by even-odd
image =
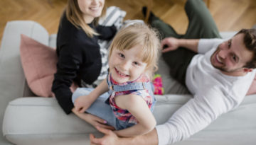
[[[115,102],[119,108],[128,110],[139,122],[132,127],[115,131],[119,137],[134,137],[146,134],[154,129],[156,120],[141,96],[134,94],[119,95],[115,98]]]

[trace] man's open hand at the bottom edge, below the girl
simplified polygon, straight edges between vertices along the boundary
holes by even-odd
[[[109,129],[104,129],[102,127],[96,127],[99,132],[105,134],[102,138],[96,138],[93,134],[90,134],[90,145],[115,145],[119,143],[119,137],[117,137],[114,132]]]

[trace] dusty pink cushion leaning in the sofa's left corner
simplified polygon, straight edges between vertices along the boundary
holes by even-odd
[[[54,97],[51,87],[58,61],[55,49],[21,34],[20,52],[21,64],[31,91],[41,97]],[[71,87],[75,91],[75,85]]]

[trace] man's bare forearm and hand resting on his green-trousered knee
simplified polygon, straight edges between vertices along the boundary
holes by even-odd
[[[177,39],[175,37],[166,37],[161,41],[162,52],[169,52],[178,49],[178,47],[185,47],[193,52],[198,52],[198,39]]]

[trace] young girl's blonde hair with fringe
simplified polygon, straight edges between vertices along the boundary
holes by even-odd
[[[140,45],[142,46],[142,62],[146,63],[146,71],[149,71],[150,75],[153,76],[154,72],[158,69],[157,61],[160,51],[159,33],[157,32],[143,23],[124,26],[114,36],[110,45],[109,57],[113,49],[123,51]]]

